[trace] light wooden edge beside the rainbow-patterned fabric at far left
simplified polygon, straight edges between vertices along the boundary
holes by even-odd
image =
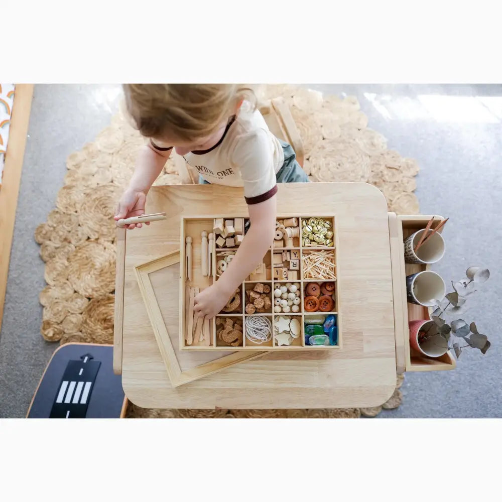
[[[32,98],[33,84],[16,84],[4,175],[0,188],[0,329],[2,329],[4,315],[11,246]]]

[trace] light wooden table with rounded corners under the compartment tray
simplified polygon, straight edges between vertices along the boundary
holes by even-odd
[[[279,184],[278,213],[336,216],[341,350],[267,352],[177,388],[166,373],[134,268],[179,249],[181,216],[232,217],[247,210],[241,189],[218,185],[153,187],[147,205],[147,213],[166,211],[168,218],[127,232],[123,318],[120,302],[115,318],[123,326],[122,385],[133,403],[145,408],[348,408],[377,406],[392,395],[396,352],[389,224],[378,189],[364,183]],[[177,291],[179,283],[169,287]],[[178,302],[166,308],[166,318],[176,319]],[[177,329],[176,323],[169,329]],[[116,350],[119,355],[119,345]],[[182,358],[199,354],[178,352]]]

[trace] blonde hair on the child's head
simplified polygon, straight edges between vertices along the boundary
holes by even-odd
[[[237,84],[124,84],[126,106],[143,136],[193,141],[214,133],[253,89]]]

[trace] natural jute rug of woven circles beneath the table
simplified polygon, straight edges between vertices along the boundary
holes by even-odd
[[[367,129],[367,117],[354,97],[344,99],[289,85],[266,85],[260,99],[283,96],[291,108],[305,148],[305,170],[312,181],[368,182],[386,196],[389,210],[418,214],[413,193],[416,161],[387,149],[386,139]],[[144,139],[123,112],[92,143],[72,153],[58,193],[56,208],[35,231],[45,262],[47,286],[41,333],[49,341],[113,343],[115,288],[115,204],[133,173]],[[180,184],[173,155],[155,185]],[[129,417],[215,418],[358,418],[397,408],[402,400],[398,375],[396,391],[382,406],[334,410],[146,410],[131,405]]]

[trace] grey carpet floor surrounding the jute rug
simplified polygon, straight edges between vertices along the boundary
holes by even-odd
[[[407,373],[403,405],[381,417],[501,417],[502,280],[496,267],[502,256],[497,215],[502,200],[502,86],[309,87],[355,95],[369,127],[388,138],[389,148],[418,160],[421,212],[450,216],[443,234],[446,255],[434,270],[446,282],[461,278],[469,265],[483,265],[492,274],[465,315],[491,339],[488,353],[466,349],[454,371]],[[35,87],[0,333],[0,417],[26,415],[57,346],[39,333],[44,264],[33,232],[54,207],[66,157],[107,126],[119,91],[116,85]]]

